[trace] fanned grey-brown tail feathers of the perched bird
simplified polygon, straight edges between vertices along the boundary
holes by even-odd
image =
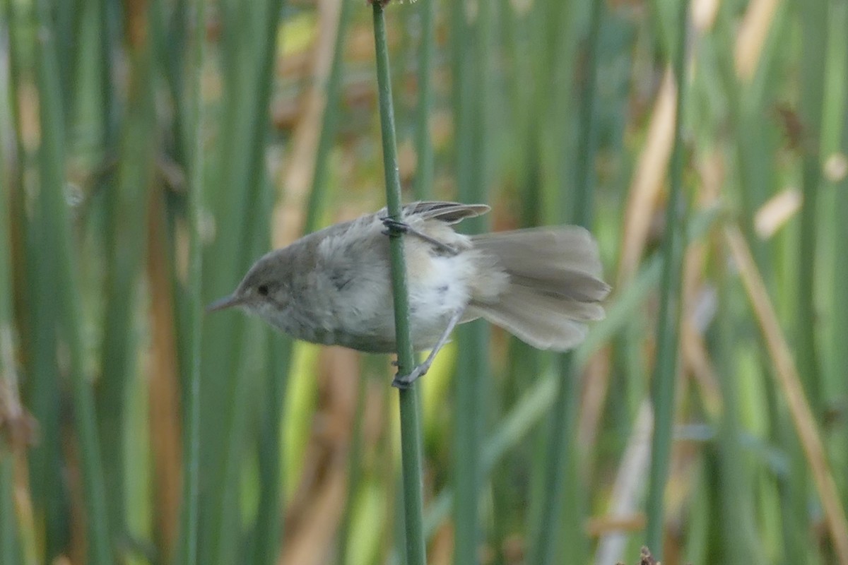
[[[473,296],[466,319],[483,317],[538,349],[566,351],[586,335],[586,322],[604,318],[598,246],[577,226],[505,231],[472,237],[509,282],[497,296]]]

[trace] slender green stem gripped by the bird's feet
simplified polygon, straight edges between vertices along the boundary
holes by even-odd
[[[382,163],[386,176],[386,202],[390,218],[401,218],[398,148],[394,132],[391,72],[388,66],[386,18],[382,4],[373,3],[374,44],[377,52],[377,90],[380,101],[382,132]],[[415,352],[410,334],[410,305],[406,285],[406,261],[403,237],[392,235],[389,240],[392,261],[394,324],[398,342],[398,374],[410,374],[415,368]],[[419,421],[417,387],[415,384],[400,394],[400,452],[404,475],[404,520],[406,523],[406,563],[424,565],[427,561],[424,546],[421,493],[421,423]]]

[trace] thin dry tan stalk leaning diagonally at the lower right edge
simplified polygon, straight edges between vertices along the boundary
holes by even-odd
[[[801,438],[801,447],[812,470],[812,478],[822,503],[824,521],[830,532],[836,557],[840,565],[848,565],[848,521],[845,520],[845,512],[840,505],[839,490],[836,489],[833,474],[828,467],[816,419],[806,400],[801,386],[801,377],[795,367],[792,353],[789,351],[789,344],[784,338],[783,330],[780,329],[778,316],[768,297],[766,285],[762,282],[762,277],[756,269],[754,258],[739,227],[728,224],[724,228],[724,236],[734,263],[739,269],[745,291],[748,292],[754,315],[760,324],[774,365],[774,375],[777,377],[778,386],[784,393],[795,430]]]

